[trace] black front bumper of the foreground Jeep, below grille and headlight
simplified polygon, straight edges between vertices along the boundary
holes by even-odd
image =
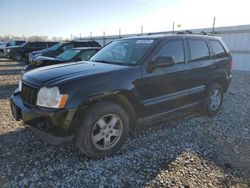
[[[23,120],[32,127],[43,140],[51,144],[60,144],[72,140],[76,122],[73,117],[75,109],[49,109],[25,104],[18,89],[10,98],[13,117]]]

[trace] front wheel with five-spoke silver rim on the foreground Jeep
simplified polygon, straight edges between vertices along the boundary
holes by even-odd
[[[126,111],[115,103],[99,102],[80,119],[76,145],[87,157],[99,159],[120,149],[128,133],[129,118]]]

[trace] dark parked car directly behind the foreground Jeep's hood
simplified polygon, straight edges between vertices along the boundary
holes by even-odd
[[[100,49],[101,47],[80,47],[80,48],[72,48],[66,50],[65,52],[61,53],[55,58],[38,56],[29,65],[26,65],[24,67],[23,73],[34,68],[44,67],[48,65],[60,64],[66,62],[87,61]]]

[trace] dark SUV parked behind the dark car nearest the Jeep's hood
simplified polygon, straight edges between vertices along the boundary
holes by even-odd
[[[50,48],[46,48],[39,51],[33,51],[28,54],[29,63],[34,61],[38,56],[46,57],[56,57],[66,50],[76,47],[101,47],[101,45],[96,41],[70,41],[70,42],[60,42]]]

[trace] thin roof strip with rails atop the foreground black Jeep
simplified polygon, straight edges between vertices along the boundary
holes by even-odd
[[[186,33],[166,33],[166,34],[148,34],[140,36],[126,37],[124,39],[163,39],[163,38],[175,38],[175,37],[195,37],[195,38],[211,38],[211,39],[220,39],[219,36],[208,35],[208,34],[186,34]]]

